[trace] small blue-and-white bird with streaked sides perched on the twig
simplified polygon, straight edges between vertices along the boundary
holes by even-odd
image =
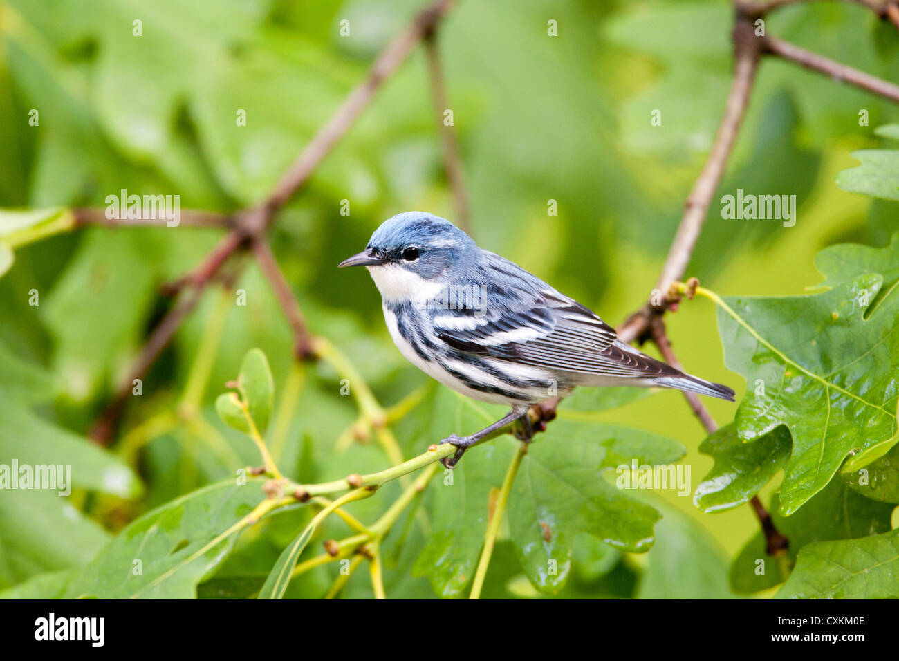
[[[476,245],[449,220],[422,211],[387,219],[339,266],[365,266],[381,292],[396,347],[416,367],[467,397],[512,406],[458,450],[577,386],[689,390],[734,401],[734,390],[685,374],[619,342],[615,329],[518,264]]]

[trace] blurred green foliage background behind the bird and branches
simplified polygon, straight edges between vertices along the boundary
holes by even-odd
[[[227,211],[260,201],[420,6],[411,0],[156,0],[139,6],[124,0],[8,0],[0,5],[0,206],[103,207],[106,195],[121,189],[180,194],[182,210]],[[141,38],[131,36],[135,18],[143,21]],[[349,38],[338,35],[342,19],[352,26]],[[547,37],[548,19],[558,22],[556,38]],[[714,137],[730,83],[732,20],[730,4],[711,0],[460,2],[440,39],[476,240],[612,324],[641,305]],[[767,29],[876,76],[895,80],[899,71],[895,30],[857,5],[789,7],[772,15]],[[38,127],[28,124],[31,109],[40,112]],[[236,126],[236,109],[245,109],[245,127]],[[654,109],[662,111],[662,126],[650,125]],[[860,110],[868,111],[868,126],[859,126]],[[352,359],[384,404],[427,380],[390,342],[378,293],[366,274],[337,272],[335,264],[358,252],[383,219],[401,210],[453,218],[432,113],[419,49],[280,213],[271,233],[272,248],[313,332]],[[875,128],[897,120],[895,106],[870,94],[765,60],[718,197],[737,188],[796,194],[796,227],[722,220],[715,202],[689,273],[726,296],[802,296],[822,281],[814,256],[823,248],[847,242],[889,246],[899,229],[899,158],[895,142],[893,150],[885,147],[891,147],[896,130],[886,126],[876,133]],[[856,150],[861,151],[853,157]],[[873,179],[886,184],[877,188],[870,185]],[[344,199],[351,201],[348,217],[339,214]],[[557,216],[547,216],[550,199],[558,202]],[[276,401],[289,379],[289,327],[252,265],[236,284],[246,291],[246,307],[233,305],[231,292],[207,294],[147,375],[143,397],[129,404],[111,451],[85,441],[89,425],[170,304],[159,285],[187,272],[217,235],[184,227],[84,228],[16,250],[12,269],[0,279],[0,463],[13,457],[72,463],[76,490],[70,499],[38,491],[0,493],[0,588],[16,586],[7,595],[80,594],[77,585],[67,587],[72,576],[67,570],[89,567],[79,578],[89,581],[96,563],[88,563],[127,523],[200,487],[215,491],[221,487],[207,485],[258,463],[252,444],[229,431],[214,407],[222,384],[236,377],[250,347],[261,347],[271,362]],[[880,274],[872,291],[884,296],[897,277],[895,255],[885,257],[886,264],[865,262],[853,275]],[[828,281],[832,292],[843,284]],[[31,290],[40,292],[37,307],[29,305]],[[736,305],[740,299],[728,300]],[[752,305],[778,304],[777,299],[750,301],[746,314],[761,317],[768,312]],[[878,310],[878,323],[887,331],[895,327],[895,308],[894,292]],[[175,425],[143,444],[139,436],[129,436],[178,406],[204,334],[222,310],[227,316],[200,411],[214,431]],[[796,310],[781,311],[784,318],[770,317],[772,325],[801,317]],[[739,402],[743,376],[754,377],[736,362],[727,363],[734,371],[725,367],[717,314],[726,336],[733,322],[704,299],[682,305],[668,320],[669,333],[691,373],[731,385]],[[756,358],[758,364],[764,356]],[[886,371],[895,359],[866,369],[877,371],[878,365],[884,370],[878,372],[878,388],[893,402],[892,422],[882,422],[895,424],[896,377]],[[327,366],[306,372],[298,406],[284,422],[287,441],[277,451],[290,478],[321,481],[387,465],[373,443],[336,449],[335,439],[356,417],[352,401],[339,389]],[[638,442],[665,437],[641,456],[672,461],[682,454],[694,487],[712,469],[713,460],[699,452],[701,427],[679,393],[628,397],[618,407],[578,397],[564,409],[568,419],[551,424],[533,447],[513,499],[565,499],[563,487],[542,495],[525,492],[528,472],[551,470],[565,453],[601,464],[600,454],[608,449],[602,433],[611,425],[628,428],[609,432],[609,438],[626,439],[632,451]],[[734,442],[751,437],[746,430],[750,418],[756,419],[752,393],[739,414],[732,404],[707,403],[719,424],[735,415],[736,423],[720,433],[730,436],[709,439],[704,450],[739,451]],[[484,410],[487,416],[500,412]],[[411,457],[449,432],[479,428],[483,419],[433,388],[395,431]],[[717,511],[723,503],[745,502],[761,487],[766,503],[777,499],[789,457],[789,434],[782,427],[777,434],[759,441],[766,447],[753,448],[773,462],[764,479],[752,487],[738,485],[742,491],[736,496],[702,496],[699,506]],[[859,445],[847,443],[846,451]],[[483,540],[477,528],[485,517],[481,504],[490,486],[502,480],[512,447],[511,439],[501,438],[471,451],[452,489],[432,486],[424,510],[430,534],[410,523],[387,539],[388,596],[463,594]],[[834,456],[835,465],[842,456]],[[724,458],[717,455],[716,469],[721,461],[731,466],[726,451]],[[892,455],[879,461],[882,497],[859,495],[841,478],[823,491],[797,496],[797,490],[785,490],[797,504],[790,509],[799,507],[797,514],[778,520],[794,541],[792,558],[799,540],[832,545],[838,542],[826,540],[870,534],[877,534],[865,540],[871,552],[889,557],[889,548],[896,547],[891,516],[895,521],[899,473]],[[435,484],[439,480],[440,475]],[[613,497],[604,492],[605,483],[594,485],[605,495],[584,493],[588,482],[576,483],[578,497]],[[458,496],[462,489],[464,503]],[[399,491],[398,484],[387,485],[349,509],[373,518]],[[248,494],[227,497],[252,500]],[[633,511],[619,523],[580,510],[567,518],[555,513],[564,519],[560,530],[571,534],[556,537],[548,549],[528,540],[533,531],[528,512],[512,510],[484,595],[532,597],[538,589],[559,589],[564,596],[717,597],[769,595],[779,585],[773,576],[760,583],[752,572],[753,559],[763,557],[763,541],[748,507],[701,514],[692,498],[672,491],[635,497],[645,503],[629,505]],[[830,529],[815,515],[847,498],[858,501],[852,521]],[[190,513],[197,525],[216,523],[200,505]],[[771,509],[779,509],[776,502]],[[654,546],[633,552],[649,547],[645,539],[658,518],[655,511],[662,518],[654,525]],[[154,594],[194,589],[207,597],[254,594],[307,520],[305,510],[295,509],[257,525],[216,571],[188,567],[165,587],[169,592]],[[321,540],[342,534],[341,525],[329,522],[303,558],[320,552]],[[124,542],[120,537],[113,546]],[[168,542],[179,540],[159,540],[160,549]],[[129,562],[129,549],[122,552],[123,562]],[[821,558],[833,552],[816,546],[809,562],[826,565]],[[541,575],[547,557],[568,554],[566,583]],[[371,595],[362,575],[352,577],[345,595]],[[291,582],[287,596],[322,596],[334,576],[335,567],[318,567]],[[821,576],[793,576],[788,587],[811,595],[826,583]],[[899,583],[895,572],[884,580]]]

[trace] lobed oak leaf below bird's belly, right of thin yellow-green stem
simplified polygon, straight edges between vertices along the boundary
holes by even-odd
[[[556,421],[521,462],[508,517],[515,550],[530,582],[556,593],[567,580],[578,532],[610,546],[645,551],[655,510],[610,484],[603,473],[621,465],[670,464],[685,449],[671,439],[614,424]]]

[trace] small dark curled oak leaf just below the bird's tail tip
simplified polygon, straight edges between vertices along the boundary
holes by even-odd
[[[711,514],[747,503],[787,465],[791,444],[782,425],[752,442],[741,441],[734,424],[721,427],[699,445],[715,465],[696,487],[694,505]]]

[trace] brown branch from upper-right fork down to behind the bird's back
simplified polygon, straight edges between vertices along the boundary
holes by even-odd
[[[656,289],[663,292],[663,295],[669,290],[673,281],[681,280],[687,265],[690,264],[690,256],[693,255],[693,248],[706,221],[708,207],[721,182],[727,160],[743,123],[760,56],[760,42],[755,37],[752,22],[738,16],[734,26],[734,80],[731,83],[730,93],[727,94],[724,117],[718,125],[712,150],[684,205],[681,224],[678,226],[662,273],[656,283]],[[642,340],[649,331],[652,319],[663,311],[664,305],[646,303],[619,326],[619,339],[626,343]]]

